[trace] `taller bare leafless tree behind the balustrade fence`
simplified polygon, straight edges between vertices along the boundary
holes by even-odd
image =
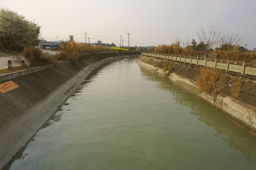
[[[219,43],[219,37],[223,34],[223,29],[218,22],[215,24],[210,22],[205,25],[201,23],[196,33],[200,42],[207,44],[208,48],[212,49]]]

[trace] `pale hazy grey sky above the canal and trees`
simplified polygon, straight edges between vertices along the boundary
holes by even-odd
[[[198,36],[201,23],[219,22],[225,32],[245,38],[256,48],[256,0],[0,0],[41,26],[41,38],[149,46],[186,44]],[[88,42],[88,39],[87,39]],[[245,44],[242,44],[245,45]]]

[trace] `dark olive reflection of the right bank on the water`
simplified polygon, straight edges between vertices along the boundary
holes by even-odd
[[[208,103],[201,104],[198,96],[183,91],[182,87],[170,82],[158,73],[148,74],[146,68],[140,67],[141,75],[147,80],[157,82],[157,87],[174,95],[176,102],[192,108],[191,113],[216,131],[212,134],[220,137],[230,147],[242,152],[249,163],[256,164],[256,134],[217,109],[211,109]],[[168,83],[166,83],[168,81]],[[170,85],[171,84],[171,85]],[[195,100],[196,99],[196,100]]]

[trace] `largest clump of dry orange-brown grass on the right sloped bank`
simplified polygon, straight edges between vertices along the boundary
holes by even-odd
[[[213,68],[201,68],[201,74],[196,79],[198,92],[204,92],[214,96],[225,94],[228,77],[220,70]]]

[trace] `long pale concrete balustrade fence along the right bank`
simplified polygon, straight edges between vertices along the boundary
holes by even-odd
[[[183,62],[188,64],[193,64],[197,66],[204,66],[210,67],[215,69],[222,69],[226,70],[227,72],[235,72],[240,73],[242,75],[250,75],[256,76],[256,63],[254,62],[247,62],[247,58],[244,61],[235,61],[229,59],[218,59],[218,56],[215,59],[208,58],[208,55],[204,57],[200,57],[199,55],[194,56],[187,56],[181,54],[163,54],[163,53],[153,53],[149,51],[142,51],[142,55],[155,57],[158,59],[165,59],[165,60],[173,60],[177,62]]]

